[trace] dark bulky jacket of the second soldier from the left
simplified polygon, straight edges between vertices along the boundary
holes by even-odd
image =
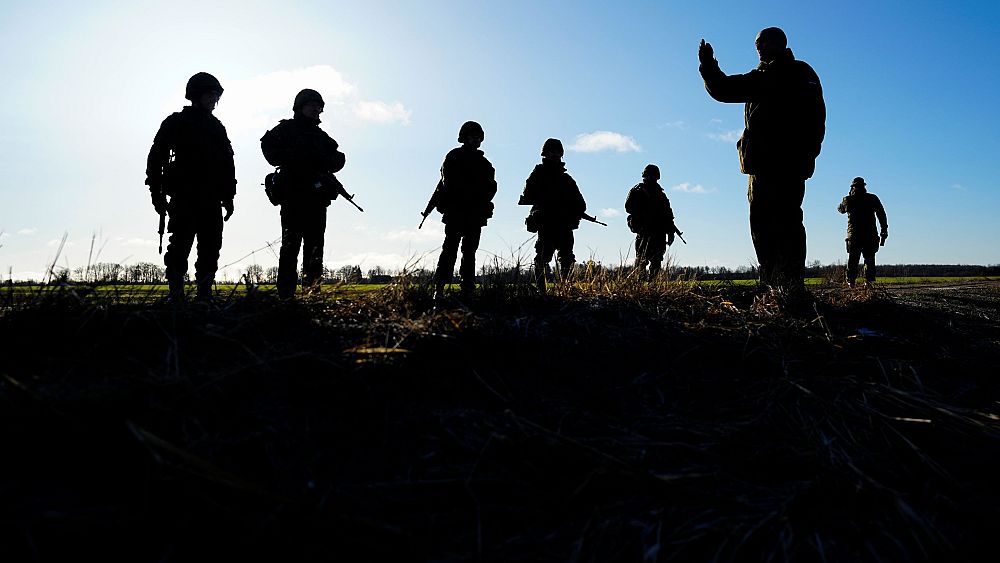
[[[296,115],[282,119],[260,139],[264,158],[271,166],[281,168],[282,204],[329,205],[336,198],[330,187],[334,180],[324,177],[340,172],[347,159],[319,123],[318,119]]]

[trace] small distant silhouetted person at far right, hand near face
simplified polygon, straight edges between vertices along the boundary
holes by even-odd
[[[854,287],[858,279],[858,262],[865,257],[865,283],[875,283],[875,253],[889,238],[889,222],[878,196],[868,193],[865,179],[851,181],[851,191],[837,206],[847,214],[847,285]],[[882,227],[875,230],[875,219]]]

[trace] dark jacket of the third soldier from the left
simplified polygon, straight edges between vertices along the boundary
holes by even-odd
[[[441,212],[445,224],[485,226],[493,216],[496,193],[496,170],[483,151],[457,147],[441,164],[441,179],[430,207]]]

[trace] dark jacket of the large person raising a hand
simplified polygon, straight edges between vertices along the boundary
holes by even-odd
[[[816,72],[791,49],[746,74],[727,76],[718,61],[699,67],[709,95],[745,103],[736,143],[744,174],[810,178],[826,134],[826,104]]]

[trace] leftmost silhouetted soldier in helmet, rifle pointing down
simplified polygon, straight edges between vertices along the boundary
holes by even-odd
[[[222,85],[214,76],[207,72],[192,76],[184,91],[191,105],[163,120],[146,160],[146,185],[153,207],[161,216],[170,216],[170,242],[163,262],[170,298],[177,302],[184,299],[184,276],[195,237],[198,298],[212,298],[222,223],[233,215],[233,146],[222,122],[212,115],[220,96]]]

